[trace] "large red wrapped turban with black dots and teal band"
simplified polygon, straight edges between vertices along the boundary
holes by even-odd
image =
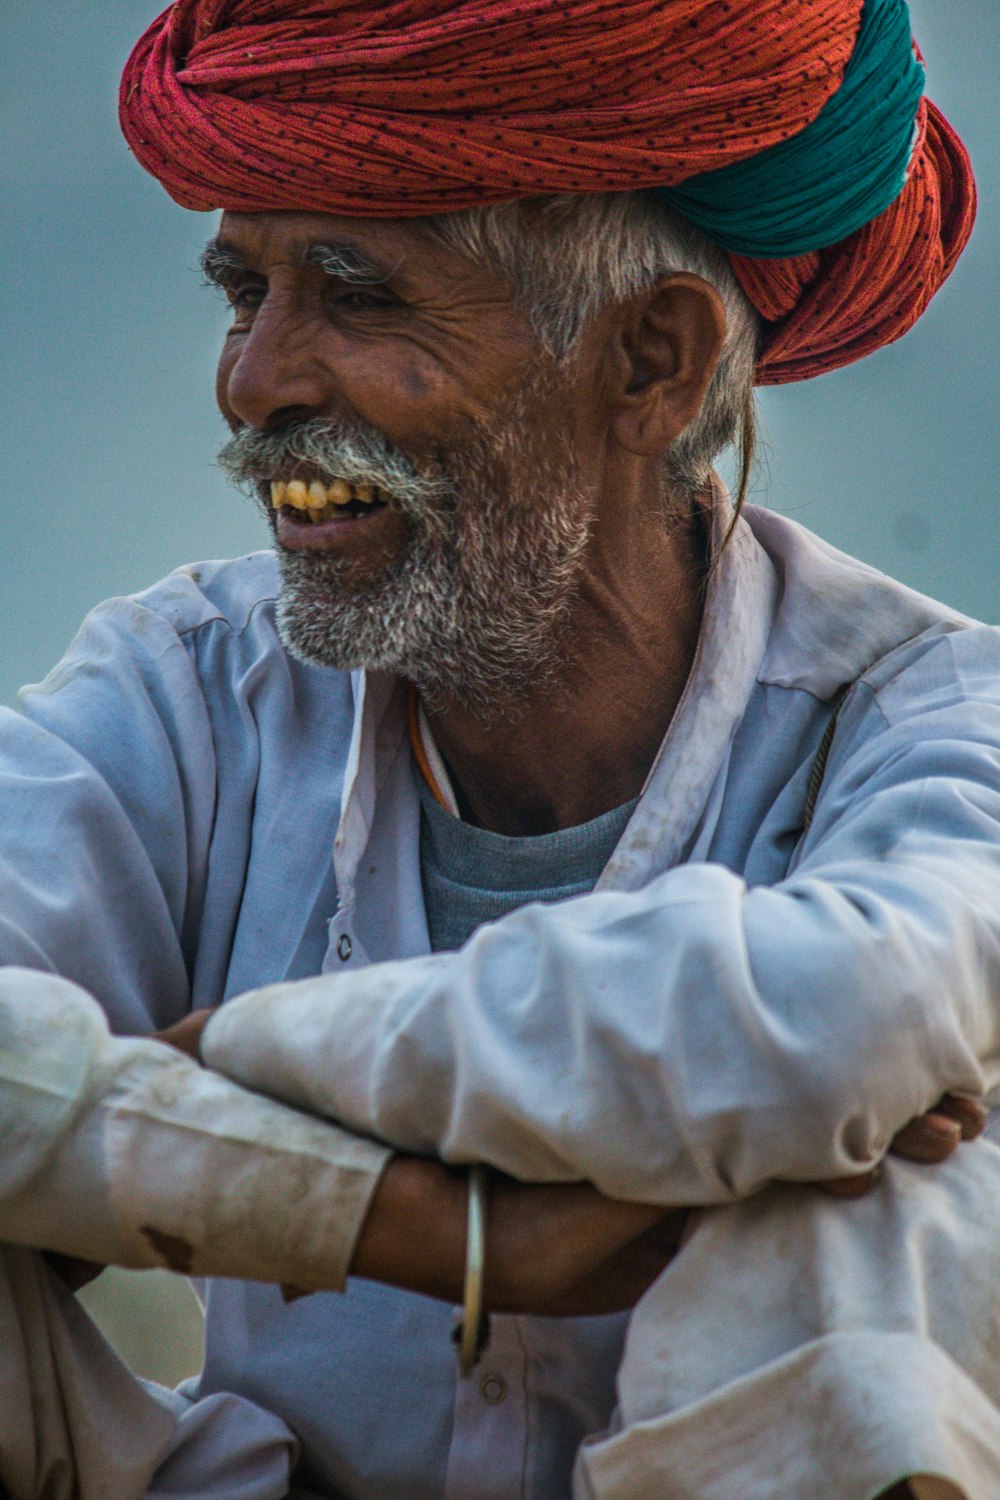
[[[922,82],[904,0],[175,0],[120,118],[187,208],[655,189],[729,254],[781,384],[906,333],[969,238]]]

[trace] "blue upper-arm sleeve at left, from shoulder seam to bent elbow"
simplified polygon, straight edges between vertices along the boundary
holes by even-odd
[[[0,710],[0,963],[73,980],[115,1030],[169,1024],[190,1004],[217,783],[184,640],[112,600],[21,708]]]

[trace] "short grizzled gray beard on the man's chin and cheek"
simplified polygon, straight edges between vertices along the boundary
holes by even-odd
[[[396,672],[429,706],[454,699],[483,716],[553,676],[591,531],[571,444],[531,422],[561,378],[543,369],[438,464],[436,498],[402,506],[409,542],[381,576],[351,586],[339,560],[279,546],[277,628],[292,656]]]

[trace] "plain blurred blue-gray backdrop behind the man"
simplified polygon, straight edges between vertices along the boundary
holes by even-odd
[[[117,78],[153,0],[0,0],[0,702],[55,662],[84,612],[178,562],[265,543],[213,465],[225,310],[199,286],[214,216],[130,159]],[[982,618],[1000,620],[997,458],[999,0],[913,0],[930,93],[982,194],[972,246],[922,322],[861,364],[762,399],[754,498]],[[87,1294],[139,1368],[198,1362],[165,1278]],[[163,1298],[166,1296],[166,1302]],[[184,1292],[186,1298],[187,1293]]]

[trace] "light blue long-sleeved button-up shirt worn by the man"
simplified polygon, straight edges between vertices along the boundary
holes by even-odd
[[[259,555],[112,600],[3,714],[1,962],[126,1032],[322,972],[331,1052],[303,1044],[348,1124],[661,1202],[859,1170],[945,1088],[996,1083],[997,632],[751,510],[597,890],[429,957],[400,684],[289,660],[274,592]],[[228,1011],[208,1058],[259,1083],[268,1038]],[[564,1496],[624,1329],[495,1318],[492,1401],[424,1298],[220,1281],[207,1316],[198,1389],[283,1416],[345,1500]]]

